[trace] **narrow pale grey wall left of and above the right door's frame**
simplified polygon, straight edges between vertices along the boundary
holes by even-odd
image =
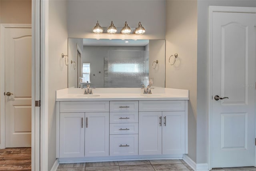
[[[198,0],[197,2],[197,163],[207,163],[208,157],[208,6],[256,7],[256,0]]]

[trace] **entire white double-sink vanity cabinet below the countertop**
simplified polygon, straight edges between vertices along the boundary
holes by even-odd
[[[56,101],[56,157],[62,163],[186,153],[188,100]]]

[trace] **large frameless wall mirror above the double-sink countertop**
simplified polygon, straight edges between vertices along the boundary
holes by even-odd
[[[165,87],[165,40],[68,39],[68,87]]]

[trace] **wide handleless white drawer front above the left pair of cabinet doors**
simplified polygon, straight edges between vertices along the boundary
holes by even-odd
[[[109,112],[109,101],[61,101],[60,112]]]

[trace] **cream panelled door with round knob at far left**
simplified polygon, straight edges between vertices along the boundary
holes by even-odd
[[[31,147],[31,28],[6,28],[5,33],[5,144]]]

